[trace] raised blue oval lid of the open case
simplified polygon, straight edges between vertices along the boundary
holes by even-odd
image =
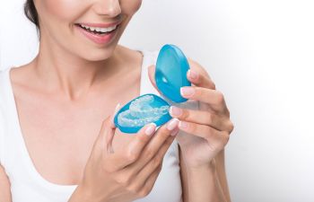
[[[170,101],[188,101],[180,94],[180,88],[191,86],[188,81],[188,59],[175,45],[164,45],[159,52],[155,70],[155,81],[160,92]]]

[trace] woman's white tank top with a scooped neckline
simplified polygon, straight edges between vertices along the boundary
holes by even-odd
[[[147,67],[156,63],[158,52],[144,55],[141,95],[160,95],[149,81]],[[24,143],[9,77],[11,67],[0,72],[0,164],[11,182],[13,202],[65,202],[76,185],[57,185],[45,180],[36,170]],[[179,148],[175,140],[163,159],[161,173],[152,192],[136,202],[180,202]]]

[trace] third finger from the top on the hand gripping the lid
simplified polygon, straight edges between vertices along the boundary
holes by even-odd
[[[232,124],[226,116],[220,116],[205,110],[188,110],[176,106],[170,107],[170,116],[179,120],[214,127],[217,130],[232,130]]]

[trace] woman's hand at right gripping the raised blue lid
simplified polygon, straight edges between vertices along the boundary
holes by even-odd
[[[190,168],[209,166],[214,157],[228,143],[233,124],[222,92],[215,85],[205,69],[194,61],[189,61],[188,80],[193,84],[181,88],[181,95],[189,100],[199,101],[199,110],[182,109],[172,106],[170,115],[178,118],[177,140]],[[154,68],[149,75],[154,86]]]

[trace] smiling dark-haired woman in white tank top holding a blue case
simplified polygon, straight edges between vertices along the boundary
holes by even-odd
[[[141,3],[26,2],[39,54],[0,74],[0,201],[230,201],[233,125],[196,62],[181,93],[198,110],[172,107],[168,123],[132,136],[112,123],[117,103],[156,91],[156,52],[118,45]]]

